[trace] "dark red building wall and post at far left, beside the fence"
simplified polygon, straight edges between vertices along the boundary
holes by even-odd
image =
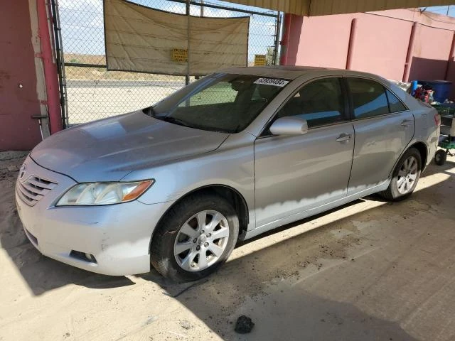
[[[41,131],[62,127],[50,8],[45,0],[15,0],[0,13],[0,151],[30,150]]]

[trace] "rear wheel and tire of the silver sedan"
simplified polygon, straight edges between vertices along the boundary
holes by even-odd
[[[416,165],[417,168],[415,168]],[[389,187],[379,194],[390,201],[406,199],[414,192],[421,171],[422,157],[419,151],[416,148],[409,148],[395,166]]]

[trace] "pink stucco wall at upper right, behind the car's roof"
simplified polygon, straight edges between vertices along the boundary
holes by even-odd
[[[334,16],[291,16],[287,55],[288,65],[346,68],[351,25],[356,19],[350,68],[402,80],[414,22],[409,80],[455,82],[455,66],[450,55],[455,18],[416,9],[398,9]],[[454,86],[455,88],[455,86]]]

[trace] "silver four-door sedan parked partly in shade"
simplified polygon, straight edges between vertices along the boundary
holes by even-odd
[[[212,273],[237,239],[372,193],[411,195],[439,115],[387,80],[242,67],[45,139],[16,202],[42,254],[100,274]]]

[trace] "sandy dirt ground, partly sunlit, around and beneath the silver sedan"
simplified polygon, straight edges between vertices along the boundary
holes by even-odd
[[[41,256],[14,205],[18,156],[0,158],[2,341],[455,340],[455,158],[430,166],[409,200],[372,196],[287,225],[176,285]],[[250,334],[234,332],[240,315]]]

